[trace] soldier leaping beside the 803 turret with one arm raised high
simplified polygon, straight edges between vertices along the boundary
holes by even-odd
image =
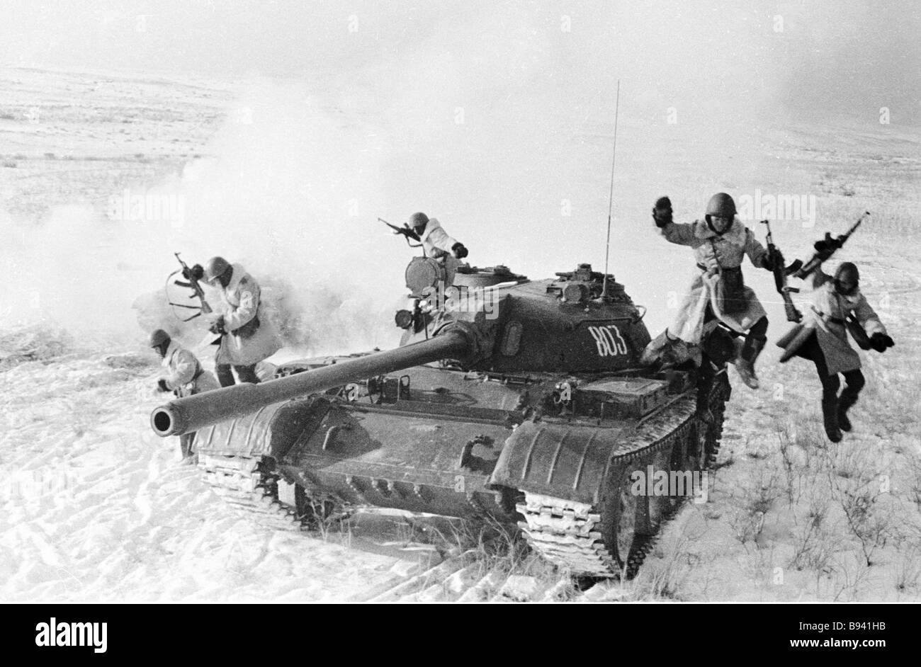
[[[758,297],[742,280],[741,263],[748,255],[756,267],[773,270],[775,262],[783,264],[780,252],[769,253],[754,237],[752,230],[736,217],[736,204],[725,192],[717,192],[706,206],[704,220],[677,224],[671,219],[671,201],[661,197],[652,211],[653,222],[670,243],[694,248],[700,271],[694,276],[690,292],[684,297],[675,321],[663,337],[653,340],[647,353],[667,348],[679,341],[698,345],[704,325],[717,318],[728,328],[745,334],[736,370],[746,385],[758,388],[754,362],[767,340],[767,315]],[[648,354],[645,355],[648,357]]]

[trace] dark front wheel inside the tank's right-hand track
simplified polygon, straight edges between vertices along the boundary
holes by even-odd
[[[615,472],[601,503],[601,539],[624,579],[634,578],[646,556],[644,546],[655,532],[648,497],[631,490],[633,472],[634,466]]]

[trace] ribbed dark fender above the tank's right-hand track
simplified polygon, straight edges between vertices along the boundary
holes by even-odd
[[[599,428],[526,421],[506,440],[490,484],[595,504],[624,436],[634,426]]]

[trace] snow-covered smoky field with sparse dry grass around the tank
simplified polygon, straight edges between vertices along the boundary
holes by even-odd
[[[162,395],[139,321],[169,312],[132,306],[161,289],[172,252],[190,263],[221,253],[286,308],[289,347],[274,361],[391,347],[411,252],[375,218],[402,223],[418,209],[450,224],[480,265],[532,278],[600,268],[610,91],[517,91],[508,116],[499,98],[484,103],[493,126],[439,142],[444,129],[423,124],[406,147],[417,119],[381,107],[362,80],[346,95],[302,81],[9,68],[0,86],[0,600],[365,600],[445,556],[400,521],[363,517],[309,537],[228,512],[149,429]],[[530,96],[553,110],[526,128],[509,119]],[[921,598],[918,133],[782,121],[657,130],[640,110],[622,100],[612,271],[647,305],[653,335],[693,261],[655,234],[651,202],[669,194],[690,221],[728,190],[737,201],[815,197],[814,226],[773,225],[787,260],[869,210],[833,263],[857,262],[896,346],[862,355],[855,430],[827,443],[811,365],[777,362],[787,324],[771,276],[746,266],[771,318],[762,389],[732,376],[710,501],[682,511],[636,581],[595,599]],[[731,137],[728,163],[713,159],[719,134]],[[421,149],[437,166],[401,171],[400,155]],[[175,208],[132,219],[113,209],[125,193]],[[763,238],[761,217],[746,222]],[[515,567],[547,588],[563,581],[527,559]]]

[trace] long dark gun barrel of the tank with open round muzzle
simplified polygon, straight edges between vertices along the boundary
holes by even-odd
[[[150,414],[150,425],[160,437],[182,435],[255,412],[274,403],[316,394],[356,380],[440,359],[461,359],[469,356],[474,346],[475,341],[470,334],[461,328],[450,328],[432,339],[332,363],[259,385],[233,385],[177,398],[154,409]]]

